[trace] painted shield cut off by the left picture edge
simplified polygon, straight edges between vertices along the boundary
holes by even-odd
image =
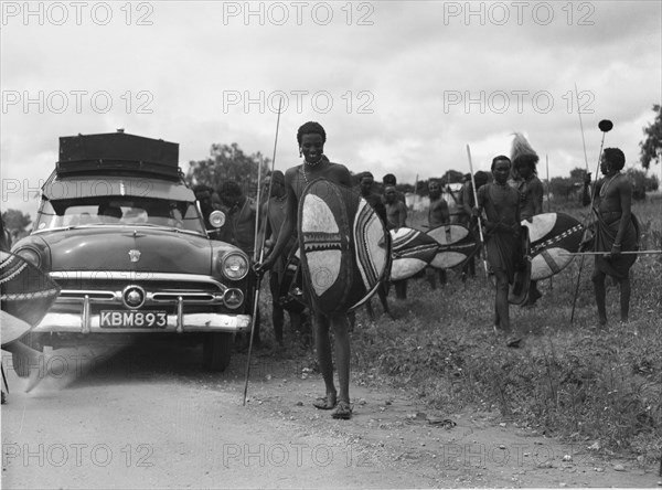
[[[60,295],[60,287],[24,258],[0,251],[2,343],[39,324]]]

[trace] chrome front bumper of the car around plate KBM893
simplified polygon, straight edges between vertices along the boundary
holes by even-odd
[[[178,313],[169,315],[164,327],[102,327],[99,315],[46,313],[34,333],[190,333],[243,332],[250,330],[250,315]]]

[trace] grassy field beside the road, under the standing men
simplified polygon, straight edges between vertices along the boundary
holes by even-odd
[[[661,201],[633,207],[643,248],[662,248],[661,207]],[[586,210],[563,212],[581,219]],[[418,214],[408,221],[414,227],[424,222]],[[641,256],[634,264],[627,324],[618,321],[618,286],[608,281],[609,323],[599,332],[592,259],[584,263],[570,323],[579,266],[575,259],[541,281],[544,296],[535,307],[511,306],[513,327],[525,333],[519,349],[492,332],[494,291],[480,263],[477,278],[461,283],[451,270],[448,285],[437,290],[425,278],[409,280],[407,300],[389,296],[397,320],[382,316],[372,322],[357,312],[353,380],[407,387],[449,413],[499,409],[545,434],[598,443],[604,451],[651,464],[662,450],[662,257]],[[270,301],[268,292],[263,298]],[[378,301],[373,306],[380,313]]]

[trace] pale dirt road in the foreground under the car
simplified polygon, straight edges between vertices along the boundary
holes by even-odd
[[[312,401],[296,360],[245,355],[201,372],[199,349],[60,350],[33,392],[9,374],[3,488],[655,487],[656,468],[599,460],[495,413],[431,413],[404,392],[352,385],[354,417]],[[445,422],[449,419],[450,422]]]

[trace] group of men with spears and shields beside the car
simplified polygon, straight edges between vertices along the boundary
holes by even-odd
[[[349,308],[335,311],[322,311],[310,301],[312,289],[310,277],[303,277],[301,284],[293,280],[300,269],[296,263],[298,232],[301,230],[300,201],[309,184],[319,179],[351,188],[352,175],[348,168],[331,162],[324,155],[327,134],[321,125],[309,121],[297,131],[299,156],[303,161],[289,168],[285,173],[273,171],[263,182],[269,189],[268,200],[258,206],[256,200],[247,196],[241,185],[234,181],[225,181],[220,189],[197,185],[193,190],[200,202],[210,236],[237,245],[253,260],[256,277],[261,278],[269,273],[269,290],[271,294],[271,318],[276,341],[284,343],[285,311],[288,312],[292,331],[309,333],[308,317],[312,320],[312,335],[319,368],[324,381],[325,394],[314,402],[320,409],[333,411],[334,418],[348,419],[352,415],[350,404],[350,331],[353,324],[353,311]],[[459,213],[457,223],[467,227],[471,234],[481,235],[484,231],[484,243],[469,254],[461,264],[462,278],[476,275],[476,259],[484,253],[489,274],[495,285],[494,330],[504,334],[512,332],[509,315],[509,288],[517,274],[526,269],[526,226],[522,223],[532,221],[543,212],[543,184],[537,178],[536,163],[538,157],[517,135],[511,157],[494,157],[491,175],[478,171],[469,174],[456,198]],[[592,281],[598,307],[598,322],[607,322],[606,315],[606,276],[613,277],[620,285],[621,320],[627,321],[630,281],[629,269],[637,255],[624,255],[623,252],[638,248],[637,221],[631,213],[631,185],[621,173],[624,156],[617,148],[608,148],[601,156],[602,180],[589,189],[591,180],[587,173],[585,181],[585,204],[591,204],[594,222],[585,226],[584,249],[592,249],[597,254]],[[396,179],[387,174],[383,179],[383,194],[374,191],[374,177],[363,172],[359,178],[357,193],[374,210],[386,231],[397,231],[406,226],[407,205],[404,195],[396,189]],[[448,225],[451,221],[449,205],[441,196],[441,184],[431,180],[428,184],[430,205],[428,210],[428,227],[430,230]],[[222,210],[226,222],[221,228],[209,222],[212,211]],[[256,220],[260,227],[257,228]],[[588,233],[590,231],[590,233]],[[264,238],[256,241],[258,237]],[[259,245],[264,244],[266,256],[260,259]],[[484,251],[484,252],[483,252]],[[303,270],[305,273],[306,270]],[[436,279],[447,283],[445,269],[427,269],[426,277],[433,288]],[[305,274],[303,274],[305,276]],[[381,278],[374,291],[381,299],[385,312],[391,315],[386,297],[388,294],[388,275]],[[405,299],[407,283],[392,281],[396,298]],[[259,284],[259,281],[258,281]],[[527,283],[525,297],[528,305],[541,298],[536,281]],[[370,307],[370,301],[367,302]],[[259,310],[254,319],[253,342],[261,343],[259,334]],[[308,315],[307,315],[308,312]],[[372,316],[372,310],[369,311]],[[331,337],[331,332],[333,335]],[[306,337],[306,335],[305,335]],[[332,339],[333,338],[333,345]],[[4,349],[6,345],[3,344]],[[333,380],[333,351],[338,371],[339,390]]]

